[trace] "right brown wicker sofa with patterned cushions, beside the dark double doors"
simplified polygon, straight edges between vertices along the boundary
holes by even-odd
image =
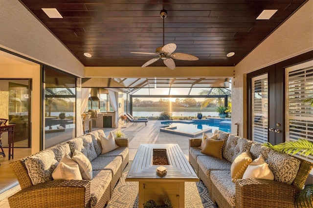
[[[220,130],[215,130],[214,134],[218,134],[217,140],[224,140],[222,159],[201,153],[201,138],[189,141],[189,162],[208,188],[214,203],[221,208],[294,208],[295,197],[303,188],[312,163]],[[253,160],[263,156],[274,180],[231,181],[231,165],[246,151]]]

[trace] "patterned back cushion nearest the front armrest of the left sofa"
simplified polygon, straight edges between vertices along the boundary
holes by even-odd
[[[51,150],[41,151],[25,160],[25,166],[33,185],[52,181],[52,172],[58,164],[59,162]]]

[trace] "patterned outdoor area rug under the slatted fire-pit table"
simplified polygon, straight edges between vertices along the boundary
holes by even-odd
[[[138,208],[138,182],[125,182],[127,172],[113,190],[106,208]],[[217,208],[209,198],[208,190],[199,182],[185,182],[185,208]]]

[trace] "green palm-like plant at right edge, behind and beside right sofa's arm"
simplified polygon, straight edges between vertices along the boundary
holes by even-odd
[[[297,141],[290,141],[280,143],[278,145],[271,145],[270,143],[263,144],[263,146],[267,146],[269,148],[275,149],[276,151],[285,152],[287,154],[294,155],[299,153],[300,155],[308,156],[313,155],[313,143],[305,140],[298,139]],[[302,189],[298,196],[295,199],[295,207],[296,208],[311,208],[313,207],[313,184],[305,185],[304,189]]]

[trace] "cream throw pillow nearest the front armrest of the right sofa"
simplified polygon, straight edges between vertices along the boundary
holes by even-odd
[[[243,178],[259,178],[273,181],[274,174],[269,169],[268,164],[264,161],[263,156],[260,155],[247,166]]]

